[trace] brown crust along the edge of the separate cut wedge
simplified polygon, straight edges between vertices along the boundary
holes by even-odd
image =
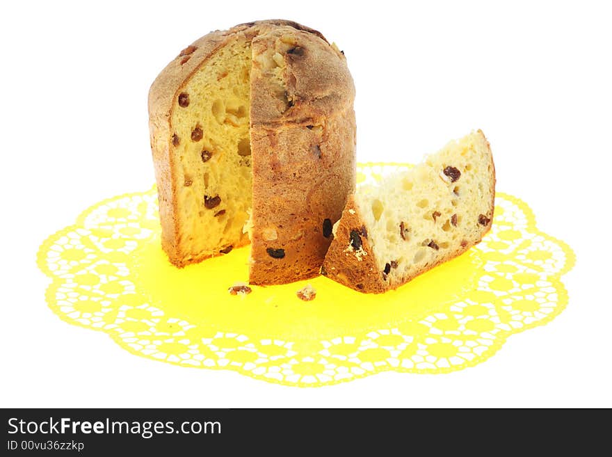
[[[325,256],[325,262],[321,267],[321,273],[328,278],[344,284],[351,289],[355,289],[364,293],[380,294],[389,289],[396,289],[406,282],[416,278],[418,275],[429,271],[430,269],[448,262],[449,260],[458,257],[463,252],[474,246],[483,239],[483,236],[491,229],[494,207],[495,207],[495,166],[491,152],[490,144],[483,134],[483,131],[478,130],[478,134],[482,136],[483,141],[487,145],[488,157],[492,165],[492,187],[491,187],[491,202],[490,202],[490,220],[483,227],[478,239],[466,240],[465,246],[459,246],[456,250],[449,252],[447,255],[436,259],[431,264],[424,264],[414,273],[400,277],[394,277],[383,274],[379,271],[378,262],[373,255],[373,250],[367,238],[362,236],[362,248],[365,255],[355,255],[355,251],[348,248],[351,243],[351,231],[360,230],[364,226],[360,209],[355,204],[353,195],[348,198],[346,208],[342,212],[342,218],[338,223],[334,240]]]

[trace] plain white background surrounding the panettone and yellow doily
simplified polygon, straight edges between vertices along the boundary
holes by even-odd
[[[612,406],[605,2],[134,3],[0,6],[0,406]],[[577,253],[567,310],[471,369],[300,389],[138,358],[47,308],[40,242],[154,181],[147,92],[158,72],[213,29],[278,17],[344,49],[360,161],[418,161],[485,131],[497,189]]]

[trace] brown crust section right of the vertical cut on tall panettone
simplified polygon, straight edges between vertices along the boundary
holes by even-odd
[[[249,282],[312,278],[331,241],[323,221],[340,218],[355,185],[353,80],[343,55],[302,30],[261,33],[252,51]],[[272,54],[284,59],[281,81],[267,65]]]

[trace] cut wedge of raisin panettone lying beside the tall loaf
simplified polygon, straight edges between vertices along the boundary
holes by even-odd
[[[321,273],[379,294],[465,252],[490,230],[495,168],[481,130],[348,199]]]

